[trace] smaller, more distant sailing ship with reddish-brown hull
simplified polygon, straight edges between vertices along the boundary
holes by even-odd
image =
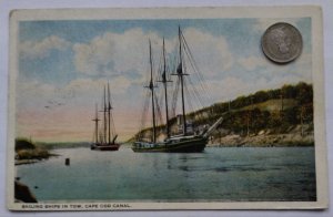
[[[100,111],[103,113],[102,120],[102,130],[99,130],[99,115],[98,115],[98,105],[95,105],[95,116],[92,120],[94,122],[94,142],[90,145],[90,149],[95,151],[118,151],[120,147],[119,143],[115,143],[118,135],[115,134],[114,122],[112,117],[112,106],[111,106],[111,96],[110,87],[108,83],[108,100],[104,87],[103,95],[103,110]],[[112,138],[112,140],[111,140]]]

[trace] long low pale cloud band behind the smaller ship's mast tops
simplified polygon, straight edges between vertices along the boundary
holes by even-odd
[[[38,81],[20,82],[17,87],[17,107],[22,112],[26,108],[44,112],[44,108],[54,108],[59,105],[90,106],[102,100],[103,87],[107,84],[108,81],[104,79],[77,79],[62,87]],[[117,76],[110,80],[109,84],[111,96],[123,99],[131,81],[124,76]]]

